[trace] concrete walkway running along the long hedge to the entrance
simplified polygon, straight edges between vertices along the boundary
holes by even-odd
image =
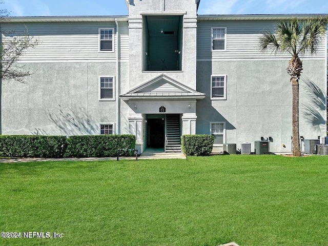
[[[142,159],[186,159],[182,153],[164,153],[163,149],[147,149],[139,157]],[[88,158],[17,158],[17,159],[0,159],[0,163],[19,163],[33,161],[93,161],[93,160],[117,160],[117,157],[88,157]],[[135,160],[134,157],[120,156],[119,160]]]

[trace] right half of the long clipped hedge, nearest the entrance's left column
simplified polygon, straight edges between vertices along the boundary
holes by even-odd
[[[134,135],[85,135],[67,139],[65,157],[114,157],[117,149],[134,149]]]

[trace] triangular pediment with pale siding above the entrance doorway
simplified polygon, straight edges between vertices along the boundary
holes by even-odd
[[[160,99],[160,98],[189,98],[203,99],[206,94],[195,91],[178,81],[161,74],[146,83],[121,94],[124,100],[129,99]]]

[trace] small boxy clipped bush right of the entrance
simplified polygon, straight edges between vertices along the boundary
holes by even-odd
[[[182,151],[187,155],[209,155],[212,152],[213,143],[212,135],[183,135]]]

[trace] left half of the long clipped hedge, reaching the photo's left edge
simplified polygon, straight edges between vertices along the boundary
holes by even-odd
[[[0,135],[0,156],[63,157],[66,136]]]

